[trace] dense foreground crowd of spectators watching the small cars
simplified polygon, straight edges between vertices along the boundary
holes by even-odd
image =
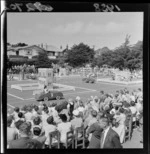
[[[123,148],[126,130],[132,122],[131,138],[134,128],[143,136],[143,93],[139,88],[127,88],[115,94],[100,91],[99,96],[91,96],[83,101],[76,99],[15,107],[7,114],[7,148],[9,149],[48,149],[49,134],[60,133],[61,148],[67,140],[67,132],[82,127],[85,134],[85,148]],[[51,144],[53,144],[53,141]]]

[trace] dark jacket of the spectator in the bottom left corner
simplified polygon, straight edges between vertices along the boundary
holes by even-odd
[[[29,137],[21,137],[9,143],[9,149],[28,149],[28,143],[34,143],[35,149],[41,149],[42,144],[37,140],[30,139]]]

